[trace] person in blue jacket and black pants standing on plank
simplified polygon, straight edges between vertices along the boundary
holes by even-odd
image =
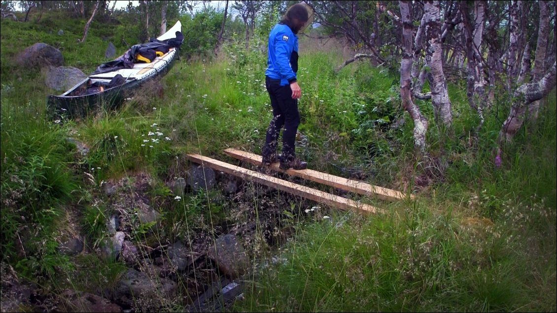
[[[267,129],[265,145],[261,149],[263,168],[277,161],[280,161],[282,170],[307,168],[307,162],[296,157],[295,140],[300,125],[298,99],[302,95],[296,77],[298,71],[296,34],[309,24],[311,11],[308,11],[306,4],[294,4],[269,34],[265,86],[271,99],[273,117]],[[277,139],[283,127],[282,154],[277,155]]]

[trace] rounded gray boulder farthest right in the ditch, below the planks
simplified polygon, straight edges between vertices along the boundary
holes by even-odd
[[[243,275],[249,265],[244,247],[231,234],[218,237],[215,246],[209,247],[208,255],[217,263],[219,270],[231,279]]]

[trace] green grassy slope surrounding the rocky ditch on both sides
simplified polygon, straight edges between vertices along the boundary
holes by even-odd
[[[47,276],[56,262],[69,264],[53,250],[60,203],[86,200],[88,194],[80,183],[82,171],[69,158],[72,147],[64,138],[70,132],[92,147],[83,166],[100,167],[93,172],[97,182],[130,171],[162,179],[172,176],[168,168],[184,152],[221,160],[226,147],[260,152],[271,117],[262,86],[265,55],[232,44],[218,59],[175,64],[161,82],[145,87],[118,112],[63,128],[53,125],[43,119],[49,91],[41,77],[19,72],[8,61],[17,47],[41,41],[60,47],[66,65],[91,71],[107,44],[99,35],[118,35],[94,23],[87,42],[77,44],[82,23],[47,16],[40,25],[2,20],[1,155],[7,164],[2,166],[2,254],[16,257],[9,239],[19,227],[38,227],[49,240],[36,242],[37,257],[24,259],[17,269]],[[65,31],[63,39],[58,29]],[[363,64],[335,73],[343,53],[311,45],[300,44],[300,132],[308,141],[300,155],[316,170],[343,174],[358,168],[371,173],[368,179],[377,185],[403,187],[400,181],[412,172],[407,165],[412,125],[380,131],[384,121],[404,116],[397,76]],[[162,97],[150,95],[157,84],[164,86]],[[507,104],[497,103],[478,146],[470,148],[468,132],[477,120],[462,90],[451,86],[449,91],[457,139],[444,137],[434,123],[429,132],[433,155],[444,148],[448,156],[442,183],[422,191],[416,203],[387,206],[385,215],[314,216],[317,222],[301,227],[283,249],[284,262],[256,273],[252,292],[245,293],[238,310],[555,311],[555,94],[539,125],[517,136],[505,150],[504,167],[496,170],[491,150]],[[431,118],[431,106],[420,105]],[[156,129],[164,134],[161,140],[145,143]],[[50,192],[40,197],[43,190]],[[21,212],[6,210],[12,207],[6,199],[31,212],[31,218],[19,220]]]

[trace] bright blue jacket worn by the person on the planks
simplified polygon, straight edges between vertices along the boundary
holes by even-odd
[[[298,37],[286,24],[276,24],[269,34],[268,67],[265,75],[286,86],[296,81]]]

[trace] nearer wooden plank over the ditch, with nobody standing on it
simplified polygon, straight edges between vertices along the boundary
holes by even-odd
[[[261,183],[261,185],[277,188],[278,190],[289,192],[293,195],[302,196],[316,202],[325,203],[326,205],[337,207],[341,210],[358,210],[368,213],[376,213],[379,211],[378,208],[367,205],[365,203],[360,203],[344,197],[331,195],[330,193],[298,185],[293,182],[281,180],[273,176],[248,170],[247,168],[228,164],[226,162],[218,161],[206,156],[191,154],[187,155],[187,158],[188,160],[200,163],[203,166],[211,167],[215,170],[223,171],[231,175],[241,177],[245,180]]]

